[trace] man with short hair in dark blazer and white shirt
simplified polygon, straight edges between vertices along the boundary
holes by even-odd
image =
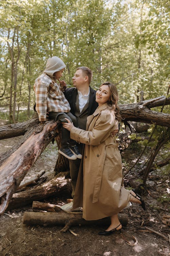
[[[92,80],[92,71],[87,67],[76,69],[72,77],[74,87],[65,90],[64,95],[68,100],[71,113],[77,119],[77,127],[86,130],[87,116],[92,115],[98,107],[96,102],[96,91],[89,85]],[[115,130],[116,134],[118,129]],[[83,151],[83,144],[80,144],[80,153]],[[74,196],[75,186],[79,173],[81,159],[69,160],[70,176],[72,185],[72,196]],[[72,211],[73,203],[63,205],[61,208],[66,211]],[[74,209],[75,210],[75,209]]]

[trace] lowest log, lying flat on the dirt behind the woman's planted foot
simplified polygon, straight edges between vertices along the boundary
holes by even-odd
[[[122,226],[128,225],[128,216],[123,213],[118,214],[119,221]],[[73,214],[72,212],[66,213],[60,212],[24,212],[23,224],[27,225],[40,225],[40,226],[61,226],[65,225],[61,231],[67,231],[71,226],[83,226],[83,225],[110,225],[110,218],[103,218],[97,221],[86,221],[82,218],[82,213]]]

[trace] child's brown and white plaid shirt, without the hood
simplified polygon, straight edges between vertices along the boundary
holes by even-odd
[[[70,111],[70,105],[63,94],[65,89],[45,73],[35,80],[35,102],[39,121],[46,121],[47,112]]]

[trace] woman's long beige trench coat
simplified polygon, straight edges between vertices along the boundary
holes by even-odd
[[[121,155],[111,133],[117,122],[105,103],[88,116],[86,131],[70,131],[71,139],[85,144],[73,208],[83,206],[83,218],[89,221],[119,213],[131,198],[121,187]]]

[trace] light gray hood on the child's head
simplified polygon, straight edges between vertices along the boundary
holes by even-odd
[[[55,72],[60,71],[61,69],[64,69],[65,67],[66,67],[66,65],[64,64],[63,60],[61,60],[57,56],[53,56],[52,58],[49,58],[47,60],[46,69],[43,71],[43,73],[53,76],[53,74]]]

